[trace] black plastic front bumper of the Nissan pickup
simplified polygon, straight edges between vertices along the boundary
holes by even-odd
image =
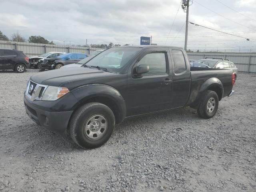
[[[40,109],[40,106],[36,107],[35,104],[32,104],[32,102],[28,100],[25,95],[24,104],[26,113],[38,125],[60,134],[64,134],[66,132],[68,122],[73,111],[50,112],[50,108],[49,111],[42,110]],[[45,106],[47,106],[47,104]]]

